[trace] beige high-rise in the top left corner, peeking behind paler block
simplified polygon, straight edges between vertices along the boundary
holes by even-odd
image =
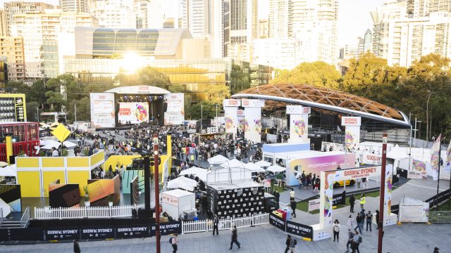
[[[11,36],[11,22],[13,22],[14,15],[30,11],[42,13],[46,9],[53,8],[55,8],[55,6],[42,2],[11,1],[4,3],[6,36]]]

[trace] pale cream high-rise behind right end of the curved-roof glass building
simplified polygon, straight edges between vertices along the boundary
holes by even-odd
[[[179,0],[178,28],[189,30],[193,38],[206,38],[211,34],[211,8],[209,0]]]

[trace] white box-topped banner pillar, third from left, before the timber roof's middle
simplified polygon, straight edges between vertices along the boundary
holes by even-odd
[[[311,108],[301,105],[287,105],[286,113],[290,115],[290,143],[309,141],[309,113]]]

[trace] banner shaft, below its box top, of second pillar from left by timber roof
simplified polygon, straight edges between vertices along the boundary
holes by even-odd
[[[261,108],[245,108],[245,138],[254,143],[261,142]]]

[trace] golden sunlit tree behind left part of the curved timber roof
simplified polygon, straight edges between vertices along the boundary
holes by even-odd
[[[278,70],[278,76],[271,84],[309,84],[327,88],[338,88],[340,72],[333,65],[322,61],[301,63],[292,70]]]

